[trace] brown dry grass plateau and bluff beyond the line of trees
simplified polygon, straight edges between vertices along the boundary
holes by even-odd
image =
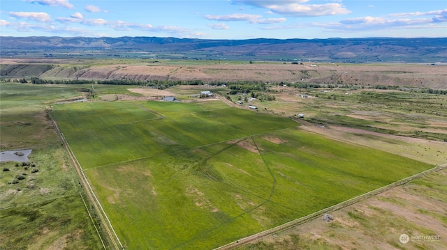
[[[60,64],[43,73],[41,78],[79,78],[79,79],[179,79],[203,81],[264,81],[264,82],[309,82],[358,85],[397,85],[431,88],[447,88],[447,65],[423,64],[328,64],[311,63],[292,65],[291,63],[216,63],[214,65],[141,65],[113,63],[107,65],[90,65],[87,61],[69,61],[62,59],[20,59],[1,58],[1,64],[49,63]],[[64,63],[71,63],[69,66]],[[78,69],[73,70],[72,64]],[[139,63],[139,64],[136,64]]]

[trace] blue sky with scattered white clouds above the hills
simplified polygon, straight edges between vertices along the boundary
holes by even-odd
[[[447,37],[446,0],[1,0],[1,36]]]

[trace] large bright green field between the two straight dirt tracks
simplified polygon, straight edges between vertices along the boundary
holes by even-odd
[[[212,249],[432,168],[219,101],[52,115],[126,249]]]

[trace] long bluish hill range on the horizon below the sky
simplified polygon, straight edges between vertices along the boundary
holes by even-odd
[[[1,56],[145,56],[208,60],[447,62],[447,38],[206,40],[121,37],[0,37]],[[45,55],[44,55],[45,54]]]

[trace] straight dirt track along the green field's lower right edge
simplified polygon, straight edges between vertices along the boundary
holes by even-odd
[[[350,198],[349,200],[343,201],[342,203],[338,203],[338,204],[332,205],[332,206],[330,206],[328,208],[323,208],[322,210],[319,210],[319,211],[314,212],[312,214],[308,214],[305,217],[301,217],[301,218],[295,219],[293,221],[286,222],[285,224],[276,226],[274,228],[270,228],[270,229],[268,229],[266,231],[262,231],[260,233],[254,234],[254,235],[250,235],[248,237],[244,237],[244,238],[242,238],[240,240],[237,240],[235,242],[230,242],[230,243],[228,243],[226,245],[223,245],[221,247],[217,247],[214,250],[237,249],[239,247],[244,246],[245,244],[249,244],[251,242],[256,242],[258,239],[260,239],[262,237],[265,237],[265,236],[268,236],[268,235],[272,235],[274,233],[280,233],[282,231],[286,231],[289,228],[293,228],[295,226],[299,226],[301,224],[305,224],[308,221],[312,221],[312,220],[314,220],[314,219],[316,219],[318,217],[321,217],[321,215],[323,215],[325,213],[334,212],[334,211],[340,210],[342,208],[346,208],[349,205],[353,205],[355,203],[358,203],[358,202],[360,202],[362,200],[365,200],[366,198],[370,198],[372,196],[376,196],[376,195],[381,194],[383,192],[386,192],[386,191],[388,191],[390,189],[393,189],[394,187],[398,187],[400,185],[404,185],[406,182],[409,182],[411,180],[416,180],[416,179],[421,178],[421,177],[423,177],[423,176],[425,176],[427,174],[434,173],[434,172],[437,172],[437,171],[441,171],[442,169],[446,169],[446,167],[447,167],[447,164],[442,164],[442,165],[435,166],[432,169],[427,169],[426,171],[423,171],[423,172],[420,172],[420,173],[416,173],[415,175],[411,175],[411,176],[403,178],[401,180],[397,180],[396,182],[393,182],[393,183],[391,183],[389,185],[386,185],[386,186],[383,186],[383,187],[379,187],[378,189],[374,189],[374,190],[372,190],[370,192],[367,192],[365,194],[360,194],[360,196],[356,196],[356,197]]]

